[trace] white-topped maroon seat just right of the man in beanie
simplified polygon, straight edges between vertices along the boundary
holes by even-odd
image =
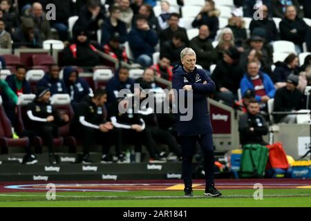
[[[70,102],[69,95],[53,95],[50,103],[59,111],[59,113],[68,115],[69,119],[72,120],[74,112]],[[64,138],[64,145],[69,147],[69,153],[75,153],[77,151],[77,140],[70,135],[70,124],[60,127],[59,135]]]

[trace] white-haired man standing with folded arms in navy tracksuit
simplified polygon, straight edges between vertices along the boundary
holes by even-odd
[[[188,121],[181,118],[185,114],[182,114],[178,108],[177,130],[182,146],[182,177],[185,182],[185,195],[193,195],[191,163],[198,141],[204,157],[205,195],[219,196],[221,193],[214,186],[213,130],[207,108],[207,95],[215,92],[215,84],[204,70],[196,68],[196,52],[194,50],[185,48],[180,53],[180,59],[182,66],[173,68],[172,84],[178,95],[175,97],[175,101],[180,102],[180,98],[185,96],[190,101],[189,104],[189,101],[187,102],[188,112],[189,105],[193,107],[193,115]],[[193,95],[192,101],[189,97],[191,95]]]

